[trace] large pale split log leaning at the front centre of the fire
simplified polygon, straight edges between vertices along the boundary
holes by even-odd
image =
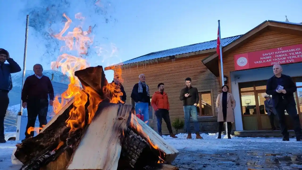
[[[116,170],[121,140],[130,123],[130,105],[101,102],[83,139],[69,162],[68,170]]]

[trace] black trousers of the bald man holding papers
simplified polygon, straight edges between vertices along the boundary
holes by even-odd
[[[285,122],[284,110],[288,113],[294,126],[294,131],[297,137],[302,137],[301,125],[299,115],[297,114],[296,105],[293,102],[288,102],[286,99],[279,99],[278,105],[275,108],[277,110],[280,129],[283,137],[289,137],[288,129]]]

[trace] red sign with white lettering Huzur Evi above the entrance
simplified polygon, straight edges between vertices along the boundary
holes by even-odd
[[[302,44],[234,55],[235,70],[302,62]]]

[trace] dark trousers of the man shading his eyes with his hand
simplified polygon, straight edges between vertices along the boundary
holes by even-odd
[[[0,139],[4,139],[4,118],[8,104],[8,92],[0,90]]]

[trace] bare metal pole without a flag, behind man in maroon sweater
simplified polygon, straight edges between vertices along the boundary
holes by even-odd
[[[28,20],[29,20],[29,15],[26,15],[25,46],[24,46],[24,58],[23,58],[23,77],[22,77],[22,87],[21,87],[21,90],[23,89],[24,81],[25,81]],[[18,113],[18,120],[17,120],[17,135],[16,135],[16,140],[20,140],[19,138],[20,138],[20,127],[21,127],[22,111],[23,111],[23,108],[22,108],[22,99],[21,99],[21,101],[20,101],[20,112]]]

